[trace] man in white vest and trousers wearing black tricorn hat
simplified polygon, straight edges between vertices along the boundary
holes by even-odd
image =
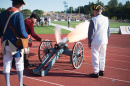
[[[88,31],[88,47],[91,49],[91,60],[94,73],[90,76],[98,78],[104,75],[105,57],[110,36],[109,20],[101,13],[103,7],[93,5],[94,17],[90,21]],[[100,64],[100,65],[99,65]]]

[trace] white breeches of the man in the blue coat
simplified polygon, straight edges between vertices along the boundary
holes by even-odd
[[[3,73],[10,73],[13,57],[10,53],[9,46],[5,46],[5,51],[6,51],[6,54],[3,56]],[[22,56],[20,58],[15,58],[15,64],[16,64],[17,71],[24,70],[23,50],[22,50],[21,54],[22,54]]]

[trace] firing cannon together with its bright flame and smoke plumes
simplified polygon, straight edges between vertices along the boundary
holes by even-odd
[[[41,64],[36,69],[33,69],[33,74],[45,76],[62,54],[70,56],[70,62],[73,67],[78,69],[83,62],[84,56],[83,45],[78,41],[84,40],[88,37],[88,27],[88,21],[80,23],[76,25],[75,29],[72,30],[63,40],[61,40],[61,27],[56,26],[55,38],[57,42],[54,47],[52,45],[52,42],[54,41],[45,40],[41,42],[38,51]],[[68,48],[67,42],[76,42],[72,50]]]

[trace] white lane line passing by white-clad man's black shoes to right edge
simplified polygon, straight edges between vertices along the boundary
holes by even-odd
[[[62,71],[71,72],[71,73],[78,73],[78,74],[88,75],[88,74],[86,74],[86,73],[82,73],[82,72],[70,71],[70,70],[60,69],[60,68],[54,68],[54,67],[52,67],[52,68],[53,68],[53,69],[56,69],[56,70],[62,70]],[[112,81],[114,80],[114,81],[119,81],[119,82],[126,82],[126,83],[130,83],[130,81],[120,80],[120,79],[114,79],[114,78],[109,78],[109,77],[100,77],[100,78],[110,79],[110,80],[112,80]]]

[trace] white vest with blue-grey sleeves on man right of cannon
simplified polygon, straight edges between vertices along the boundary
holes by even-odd
[[[88,31],[88,42],[92,45],[102,45],[108,43],[110,36],[109,20],[102,14],[98,14],[90,21]]]

